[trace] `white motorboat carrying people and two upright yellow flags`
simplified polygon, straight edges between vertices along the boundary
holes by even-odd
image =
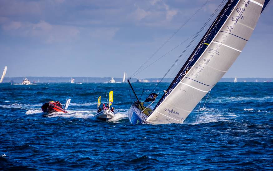
[[[106,94],[106,98],[107,98],[107,94]],[[114,110],[110,110],[109,109],[110,106],[113,104],[113,101],[114,101],[113,91],[109,92],[109,107],[107,107],[107,106],[105,106],[103,104],[104,106],[100,110],[100,108],[99,108],[100,104],[101,104],[100,103],[100,99],[101,99],[101,96],[98,98],[98,105],[97,105],[98,113],[95,114],[94,117],[97,118],[97,119],[103,120],[103,121],[106,121],[106,120],[114,118],[115,117]],[[107,102],[107,104],[108,104],[108,102]]]

